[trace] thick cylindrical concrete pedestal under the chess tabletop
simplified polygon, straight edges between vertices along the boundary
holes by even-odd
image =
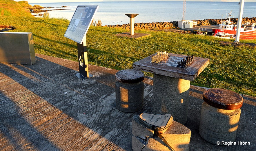
[[[153,112],[171,113],[175,121],[185,124],[187,121],[190,81],[154,74]]]

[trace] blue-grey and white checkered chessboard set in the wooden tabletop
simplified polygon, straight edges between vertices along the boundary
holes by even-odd
[[[152,57],[152,56],[154,56],[154,55],[150,55],[150,57]],[[185,58],[186,58],[186,56],[185,56]],[[183,59],[184,59],[184,57],[169,56],[168,58],[163,59],[162,61],[158,62],[157,64],[159,64],[159,65],[165,65],[165,66],[177,67],[178,62],[181,61],[181,60],[183,60]],[[194,60],[195,60],[195,59],[193,59],[193,61],[194,61]],[[192,62],[192,61],[191,61],[191,62]],[[156,64],[156,63],[155,63],[155,64]],[[189,64],[188,64],[188,65],[189,65]],[[187,66],[188,66],[188,65],[187,65]],[[185,66],[185,68],[186,68],[187,66]]]

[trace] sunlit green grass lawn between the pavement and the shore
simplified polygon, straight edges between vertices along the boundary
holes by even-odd
[[[65,19],[0,16],[0,25],[16,27],[11,32],[33,33],[36,53],[78,61],[77,43],[63,36],[68,24]],[[86,35],[89,64],[123,70],[131,69],[132,63],[157,51],[193,54],[209,58],[210,64],[191,82],[192,85],[256,96],[255,48],[222,46],[218,42],[220,39],[214,37],[164,31],[135,31],[152,35],[141,39],[113,36],[120,32],[125,30],[90,27]],[[240,42],[256,43],[256,40]]]

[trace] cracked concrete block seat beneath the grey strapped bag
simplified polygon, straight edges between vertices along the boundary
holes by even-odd
[[[139,115],[132,117],[132,150],[170,151],[171,149],[154,131],[139,122]],[[173,121],[167,131],[162,134],[175,151],[188,151],[191,131],[184,125]]]

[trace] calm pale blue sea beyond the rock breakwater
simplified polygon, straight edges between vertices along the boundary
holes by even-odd
[[[128,24],[129,18],[125,14],[139,14],[135,23],[152,23],[164,21],[238,18],[238,2],[202,2],[187,1],[183,15],[183,1],[108,1],[108,2],[63,2],[63,3],[30,3],[30,5],[53,7],[51,9],[70,10],[48,11],[52,18],[66,18],[71,20],[78,5],[98,5],[95,21],[101,20],[102,25]],[[245,2],[243,17],[256,17],[256,2]],[[47,9],[49,10],[49,9]],[[41,12],[43,13],[43,12]],[[37,13],[39,14],[39,13]],[[35,14],[36,15],[36,14]]]

